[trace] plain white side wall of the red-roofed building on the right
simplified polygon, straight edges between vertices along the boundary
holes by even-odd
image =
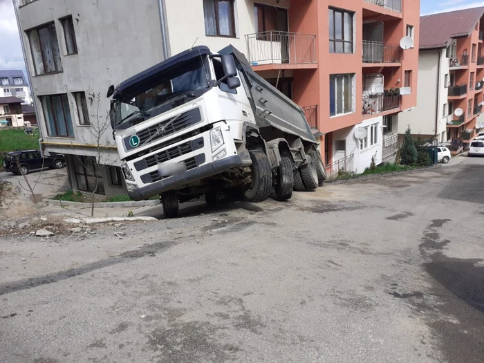
[[[404,133],[407,126],[410,126],[414,135],[445,134],[447,116],[443,115],[443,106],[448,103],[444,82],[446,74],[449,74],[449,59],[445,57],[445,49],[420,51],[417,106],[398,115],[398,133]]]

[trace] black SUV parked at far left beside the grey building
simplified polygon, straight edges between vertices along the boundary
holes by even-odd
[[[28,174],[42,167],[60,169],[66,165],[66,159],[60,153],[42,158],[38,150],[19,150],[7,153],[2,165],[3,169],[13,174]]]

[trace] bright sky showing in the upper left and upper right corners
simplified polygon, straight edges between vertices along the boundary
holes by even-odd
[[[420,14],[478,6],[484,6],[484,0],[421,0]],[[0,69],[21,69],[26,73],[12,0],[0,0]]]

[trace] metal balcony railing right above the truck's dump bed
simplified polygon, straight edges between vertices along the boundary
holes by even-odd
[[[248,34],[245,39],[253,66],[316,63],[316,35],[270,31]]]

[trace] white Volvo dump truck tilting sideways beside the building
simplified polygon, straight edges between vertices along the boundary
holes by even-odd
[[[165,216],[205,196],[279,201],[326,178],[301,107],[233,46],[196,46],[110,86],[111,124],[129,196],[160,195]]]

